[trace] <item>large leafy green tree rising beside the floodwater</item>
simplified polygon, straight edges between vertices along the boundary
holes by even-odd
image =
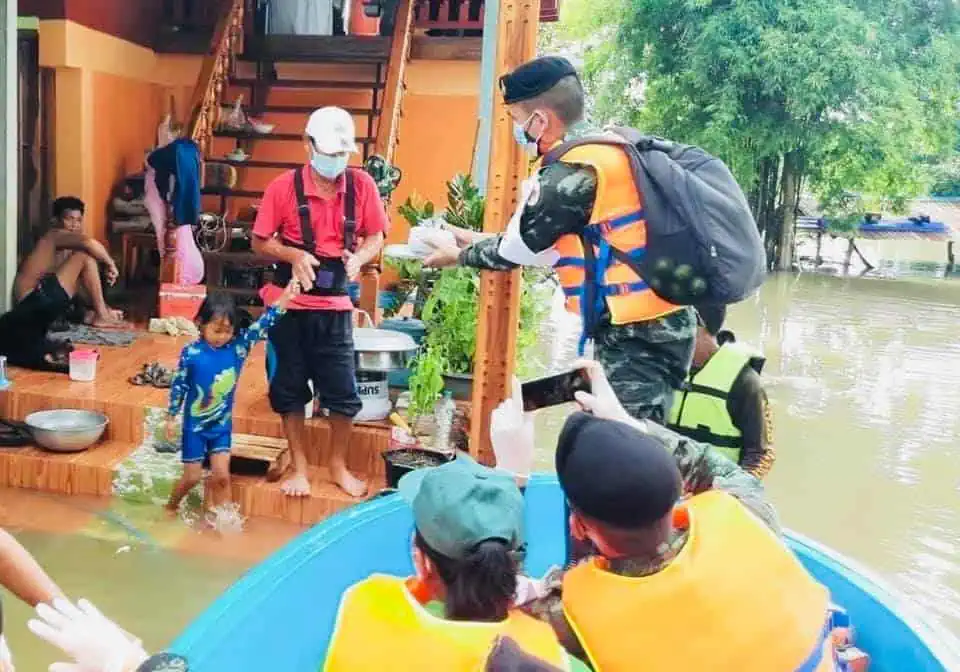
[[[952,152],[953,0],[568,0],[592,112],[703,146],[747,192],[768,256],[793,258],[805,188],[894,208]]]

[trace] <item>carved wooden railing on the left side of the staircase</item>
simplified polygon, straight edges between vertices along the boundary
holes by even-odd
[[[190,99],[190,137],[206,155],[210,149],[223,93],[227,90],[234,57],[243,50],[245,0],[229,0],[230,4],[217,22],[210,50],[203,59],[200,77]]]

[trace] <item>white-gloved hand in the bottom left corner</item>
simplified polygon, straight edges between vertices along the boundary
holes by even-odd
[[[52,607],[38,604],[37,616],[40,620],[27,622],[30,631],[74,661],[54,663],[50,672],[132,672],[147,659],[140,640],[131,638],[86,600],[76,606],[62,598],[55,599]]]

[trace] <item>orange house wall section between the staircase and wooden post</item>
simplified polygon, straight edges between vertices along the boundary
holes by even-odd
[[[396,213],[413,193],[447,202],[447,181],[469,173],[477,136],[479,61],[412,60],[407,66],[396,163],[403,179],[393,194],[390,242],[406,242],[409,227]]]

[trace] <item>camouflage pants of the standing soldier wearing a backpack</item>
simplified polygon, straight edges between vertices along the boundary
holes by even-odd
[[[594,347],[620,403],[633,417],[664,424],[690,369],[697,319],[684,308],[655,320],[604,324]]]

